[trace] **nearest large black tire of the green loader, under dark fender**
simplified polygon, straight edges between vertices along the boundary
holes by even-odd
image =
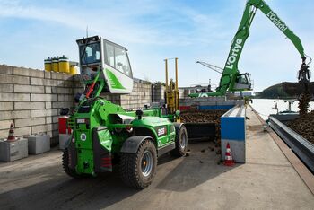
[[[144,163],[146,155],[151,155],[153,162],[152,169],[145,173],[145,167],[149,167],[149,163]],[[136,153],[121,153],[119,168],[121,179],[127,186],[147,188],[152,183],[157,169],[157,151],[152,139],[145,139]]]

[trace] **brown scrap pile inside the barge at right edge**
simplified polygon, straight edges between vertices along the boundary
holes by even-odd
[[[314,110],[287,122],[287,126],[314,144]]]

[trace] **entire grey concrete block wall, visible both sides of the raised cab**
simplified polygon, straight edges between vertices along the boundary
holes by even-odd
[[[0,65],[0,137],[7,137],[13,122],[15,136],[46,133],[57,141],[60,109],[73,107],[77,92],[83,92],[79,75]],[[157,91],[152,83],[134,79],[131,94],[105,97],[124,109],[139,109],[151,105],[153,96],[162,100],[164,86]]]

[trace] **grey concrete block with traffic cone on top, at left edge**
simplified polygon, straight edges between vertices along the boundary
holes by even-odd
[[[0,141],[0,161],[13,162],[28,155],[28,140],[26,138],[20,138],[13,142]]]

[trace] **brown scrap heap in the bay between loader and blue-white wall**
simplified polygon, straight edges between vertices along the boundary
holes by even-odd
[[[214,123],[217,143],[220,144],[220,118],[226,110],[186,110],[180,113],[183,123]]]

